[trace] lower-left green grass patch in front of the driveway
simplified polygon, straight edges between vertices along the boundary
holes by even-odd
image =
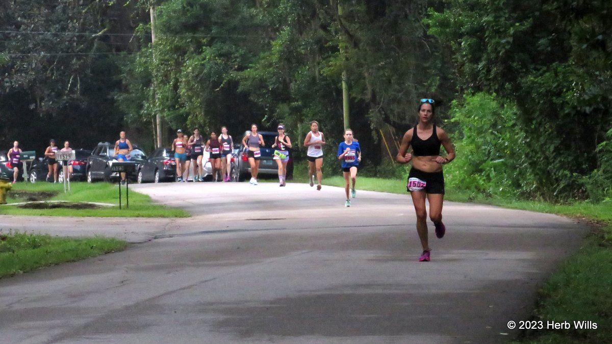
[[[120,251],[126,246],[125,241],[106,237],[0,233],[0,279],[40,267]]]

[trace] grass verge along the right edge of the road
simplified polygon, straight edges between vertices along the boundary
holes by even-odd
[[[307,182],[302,176],[297,182]],[[323,184],[344,187],[344,178],[325,178]],[[403,179],[357,177],[357,190],[406,194]],[[594,224],[592,234],[569,260],[554,272],[539,291],[532,320],[567,321],[570,329],[527,331],[518,338],[527,343],[612,343],[612,202],[592,204],[577,201],[552,204],[507,198],[474,198],[467,192],[446,190],[449,201],[472,202],[504,208],[548,212],[587,220]],[[592,321],[597,329],[577,329],[573,321]]]

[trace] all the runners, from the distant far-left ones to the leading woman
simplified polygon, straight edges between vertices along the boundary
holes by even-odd
[[[442,203],[444,201],[442,165],[455,159],[455,150],[449,136],[441,127],[435,125],[434,116],[435,100],[421,99],[417,108],[418,123],[404,134],[400,149],[395,157],[398,163],[411,163],[412,165],[408,174],[406,191],[410,192],[412,196],[417,218],[417,233],[423,247],[423,253],[419,257],[419,261],[430,261],[431,249],[428,242],[426,199],[430,205],[429,217],[435,227],[436,236],[441,238],[446,233],[446,226],[442,223]],[[247,148],[246,153],[251,168],[250,184],[253,185],[257,185],[259,159],[261,158],[260,148],[264,146],[263,136],[257,130],[256,124],[251,125],[250,133],[242,138],[242,144]],[[286,185],[286,165],[289,160],[289,150],[293,149],[293,144],[289,136],[285,134],[285,125],[278,124],[277,130],[278,135],[274,138],[272,148],[275,149],[274,160],[278,164],[278,181],[280,186],[283,187]],[[353,130],[346,129],[344,139],[343,142],[338,144],[337,157],[341,161],[345,179],[345,206],[349,207],[351,206],[349,196],[356,197],[357,170],[362,155],[359,143],[354,140]],[[204,151],[210,152],[213,180],[217,180],[217,172],[220,172],[223,173],[223,181],[230,181],[230,162],[234,141],[232,136],[228,135],[227,128],[222,127],[221,135],[217,136],[217,133],[212,132],[206,142],[204,140],[198,129],[194,129],[193,135],[189,138],[183,134],[182,130],[177,130],[177,137],[172,142],[172,150],[176,160],[178,181],[186,181],[184,174],[187,173],[190,162],[193,164],[193,181],[203,181],[202,159]],[[313,187],[316,178],[317,190],[321,190],[321,179],[323,179],[321,168],[325,145],[325,135],[319,132],[319,123],[316,121],[310,122],[310,132],[305,137],[304,146],[308,149],[309,184]],[[446,150],[446,157],[440,155],[441,146]],[[411,148],[411,151],[408,151],[409,148]],[[119,140],[116,141],[114,146],[116,159],[119,161],[129,160],[129,152],[132,149],[132,143],[125,138],[125,132],[119,133]],[[69,141],[65,141],[64,148],[61,151],[70,150],[72,149]],[[53,175],[54,182],[58,181],[58,162],[55,160],[57,151],[58,147],[55,140],[51,140],[49,146],[45,149],[45,156],[48,157],[49,171],[47,178],[49,179]],[[21,154],[19,143],[15,141],[13,147],[7,153],[7,157],[9,157],[7,165],[13,168],[13,182],[17,181]],[[124,173],[121,174],[121,179],[122,181],[125,180]]]

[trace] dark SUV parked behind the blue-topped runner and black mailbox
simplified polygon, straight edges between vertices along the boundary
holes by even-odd
[[[147,161],[146,154],[138,148],[135,144],[132,144],[134,148],[130,152],[130,161],[136,163],[136,169],[133,173],[127,174],[127,178],[132,181],[136,181],[138,171],[141,166]],[[87,159],[87,165],[85,167],[87,181],[119,181],[120,176],[118,172],[111,172],[111,166],[113,162],[116,162],[114,156],[114,144],[108,142],[100,142],[94,151],[89,155]]]

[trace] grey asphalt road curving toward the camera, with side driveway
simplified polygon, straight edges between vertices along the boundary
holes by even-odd
[[[138,242],[0,280],[2,342],[507,342],[587,230],[447,202],[447,234],[431,231],[419,263],[408,195],[358,190],[344,208],[342,189],[305,184],[133,189],[193,217],[0,216],[3,231]]]

